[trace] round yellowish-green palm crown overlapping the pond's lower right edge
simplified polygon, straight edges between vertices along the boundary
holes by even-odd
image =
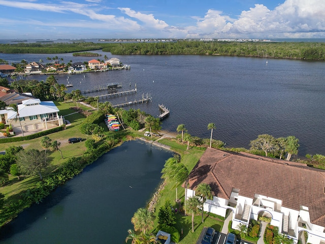
[[[154,216],[147,208],[139,208],[131,219],[134,229],[146,233],[146,229],[152,227]]]

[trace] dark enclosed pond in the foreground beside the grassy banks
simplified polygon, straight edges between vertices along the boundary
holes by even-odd
[[[0,243],[125,243],[171,151],[129,141],[0,229]]]

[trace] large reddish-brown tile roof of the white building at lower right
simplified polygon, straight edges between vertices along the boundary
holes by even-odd
[[[309,207],[312,223],[325,227],[325,171],[304,164],[207,148],[189,175],[189,189],[210,185],[213,195],[229,199],[232,189],[241,196],[255,194],[282,200],[282,206]],[[314,222],[313,222],[314,221]]]

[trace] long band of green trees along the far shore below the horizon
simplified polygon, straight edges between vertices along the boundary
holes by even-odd
[[[325,60],[325,43],[318,42],[202,42],[156,43],[17,43],[0,44],[1,53],[69,53],[103,49],[113,55],[229,55]]]

